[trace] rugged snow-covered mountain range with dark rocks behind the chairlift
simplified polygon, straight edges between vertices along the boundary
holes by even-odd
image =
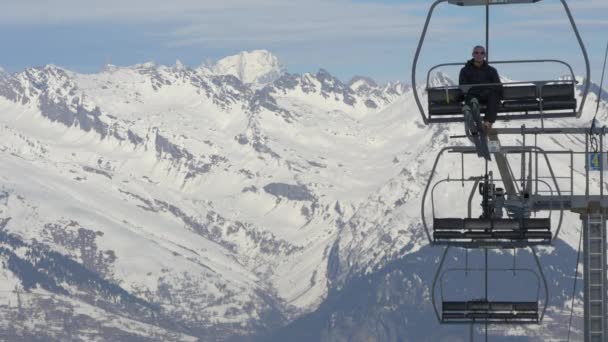
[[[199,68],[49,65],[0,74],[0,122],[7,336],[268,336],[361,279],[386,290],[378,277],[396,269],[420,298],[404,303],[429,308],[435,265],[408,264],[436,253],[419,197],[462,128],[424,126],[400,82],[289,74],[266,51]]]

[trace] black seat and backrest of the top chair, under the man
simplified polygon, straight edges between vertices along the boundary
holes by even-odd
[[[461,122],[465,94],[456,87],[427,89],[430,122]],[[508,84],[502,86],[496,120],[534,119],[576,116],[574,82],[559,84]],[[542,114],[541,114],[542,110]],[[485,113],[486,106],[480,106]]]

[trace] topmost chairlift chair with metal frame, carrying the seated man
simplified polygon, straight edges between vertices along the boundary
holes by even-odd
[[[538,60],[507,60],[507,61],[491,61],[494,64],[530,64],[530,63],[558,63],[565,65],[570,71],[570,79],[558,80],[541,80],[529,82],[506,82],[500,84],[467,84],[454,86],[431,86],[429,80],[431,72],[443,66],[462,65],[462,63],[444,63],[432,67],[427,73],[426,92],[428,98],[428,114],[422,106],[418,89],[416,87],[416,68],[420,51],[424,43],[427,29],[437,5],[443,2],[448,2],[457,6],[486,6],[486,48],[489,43],[489,19],[488,12],[491,5],[509,5],[509,4],[526,4],[536,3],[541,0],[437,0],[431,6],[427,19],[416,49],[416,55],[412,65],[412,85],[414,98],[425,124],[442,123],[442,122],[463,122],[463,106],[464,99],[469,90],[472,88],[492,88],[502,87],[502,98],[498,109],[496,120],[526,120],[526,119],[545,119],[545,118],[566,118],[580,117],[582,109],[589,92],[590,67],[589,59],[585,46],[582,42],[570,9],[565,0],[560,0],[564,10],[568,15],[568,19],[572,26],[576,38],[579,42],[586,66],[586,78],[583,90],[583,97],[577,107],[575,98],[575,87],[577,80],[572,71],[572,67],[560,60],[556,59],[538,59]],[[481,105],[480,113],[485,113],[485,105]]]

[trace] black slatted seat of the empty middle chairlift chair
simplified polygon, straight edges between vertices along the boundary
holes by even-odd
[[[551,243],[551,219],[527,218],[435,218],[433,238],[441,245],[548,245]]]

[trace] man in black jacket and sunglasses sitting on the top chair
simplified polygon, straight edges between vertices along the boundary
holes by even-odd
[[[486,49],[477,45],[473,48],[473,58],[469,60],[460,70],[459,84],[487,84],[500,83],[498,72],[486,61]],[[501,86],[472,87],[466,93],[465,103],[470,105],[473,98],[477,98],[480,104],[486,105],[486,112],[483,118],[483,126],[487,131],[492,128],[496,121],[496,114],[500,106]]]

